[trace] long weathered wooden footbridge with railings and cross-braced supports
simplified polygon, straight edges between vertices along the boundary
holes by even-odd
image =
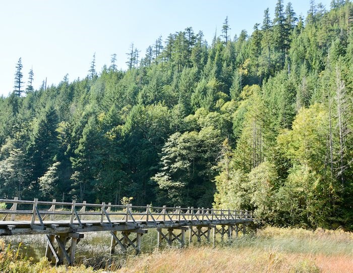
[[[224,210],[213,208],[182,208],[113,205],[111,203],[89,204],[85,201],[56,202],[0,199],[8,209],[0,209],[0,236],[44,234],[47,241],[45,256],[56,264],[66,259],[72,265],[76,245],[85,232],[109,231],[110,252],[115,246],[126,252],[133,247],[141,251],[141,237],[148,229],[158,232],[157,247],[163,240],[168,245],[174,241],[185,245],[185,232],[189,231],[189,242],[193,238],[201,241],[216,234],[231,237],[233,232],[246,233],[246,226],[253,222],[252,212],[247,210]],[[56,241],[56,243],[55,243]],[[67,248],[67,245],[69,247]]]

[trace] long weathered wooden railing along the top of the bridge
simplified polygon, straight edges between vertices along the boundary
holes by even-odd
[[[181,222],[181,221],[231,221],[251,220],[252,212],[248,210],[215,209],[204,207],[156,207],[151,205],[137,206],[132,204],[114,205],[102,202],[91,204],[83,201],[58,202],[0,199],[8,209],[0,209],[1,221],[31,221],[31,225],[44,225],[49,221],[70,221],[70,224],[82,225],[87,221],[99,221],[101,224],[138,223],[138,222]],[[22,209],[23,207],[23,209]]]

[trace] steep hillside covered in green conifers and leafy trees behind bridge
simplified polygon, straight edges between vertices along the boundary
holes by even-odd
[[[345,3],[346,2],[346,3]],[[327,7],[328,9],[328,7]],[[252,33],[188,27],[34,90],[21,59],[0,98],[0,197],[255,210],[352,229],[353,4],[278,0]],[[13,68],[15,69],[15,68]],[[32,80],[31,80],[32,79]]]

